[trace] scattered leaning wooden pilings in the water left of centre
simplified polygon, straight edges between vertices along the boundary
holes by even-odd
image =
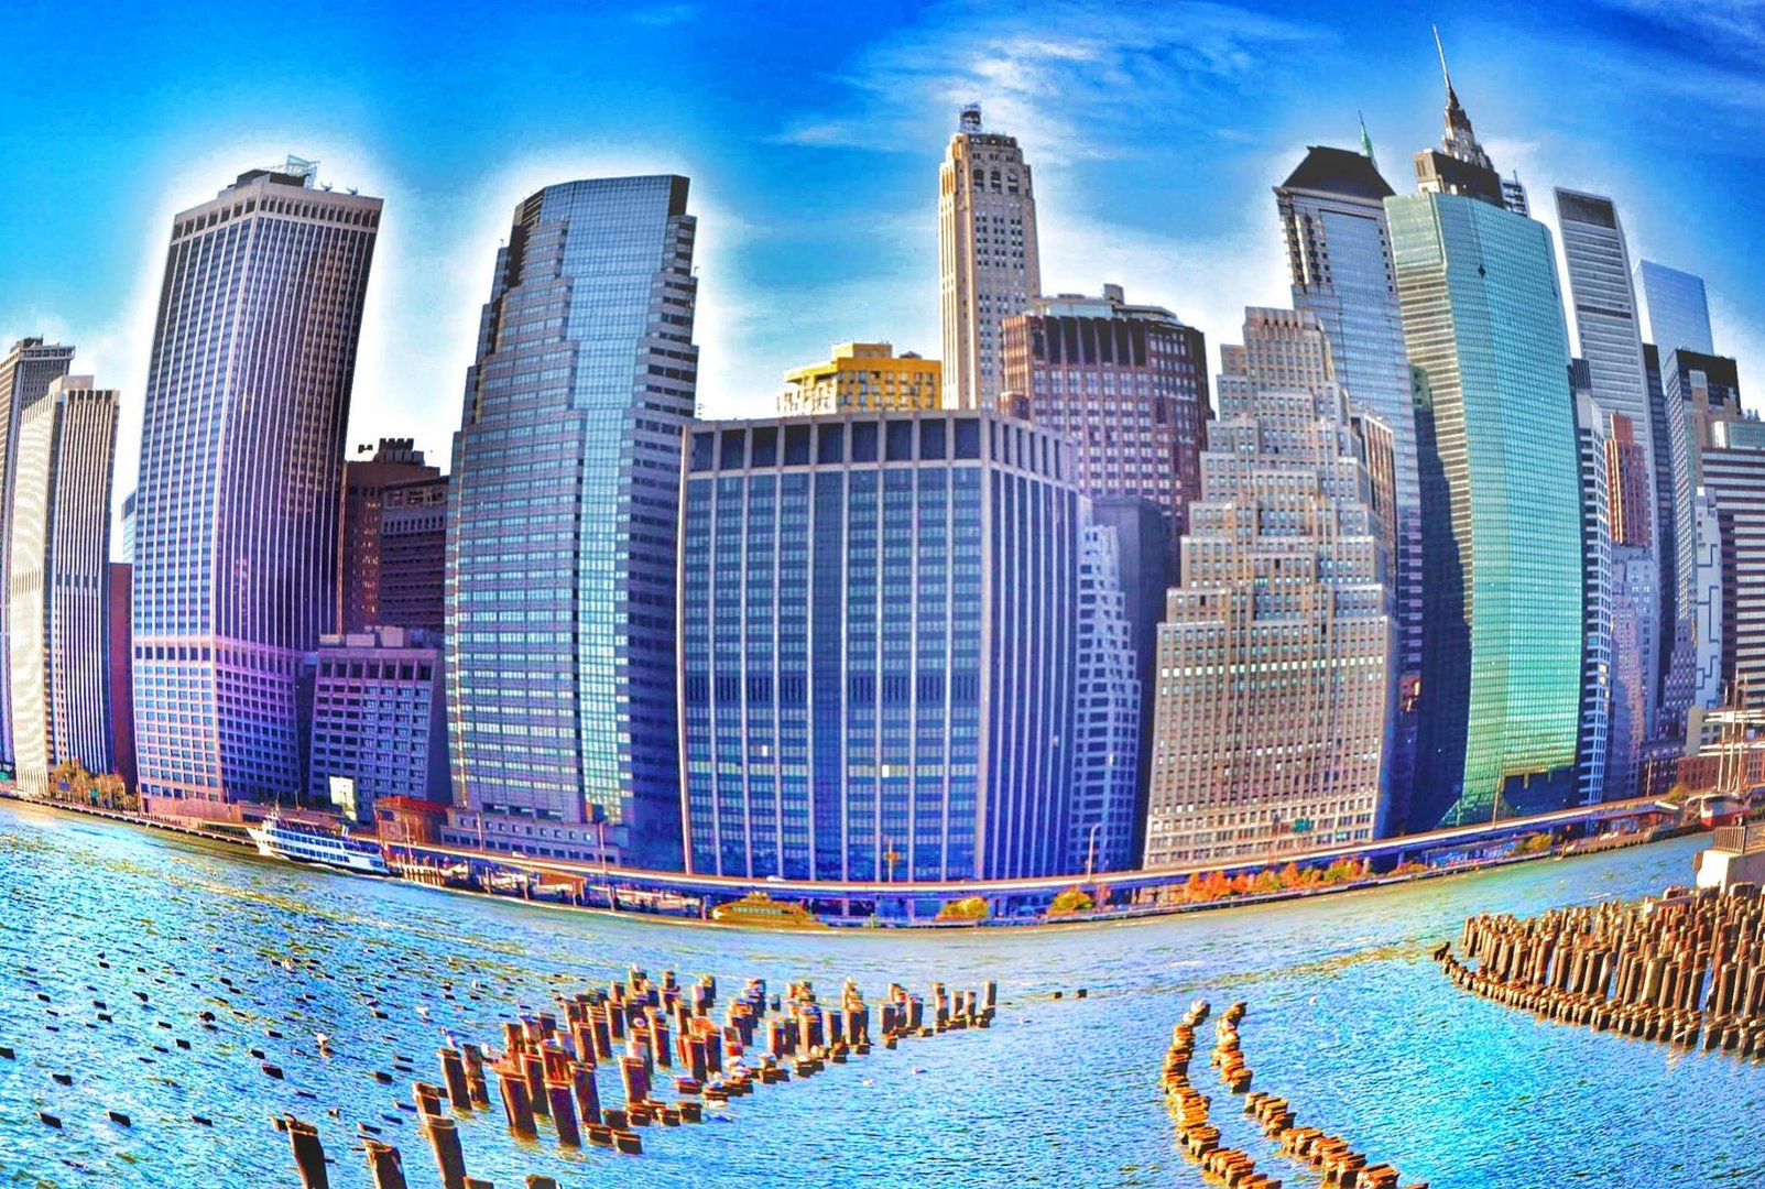
[[[980,991],[934,983],[921,998],[891,983],[877,1004],[875,1036],[895,1048],[907,1037],[987,1028],[997,993],[994,981]],[[561,1148],[586,1141],[635,1155],[642,1152],[641,1127],[702,1122],[706,1106],[725,1106],[759,1085],[810,1078],[872,1050],[870,1006],[851,981],[835,1006],[821,1002],[810,983],[791,983],[784,995],[768,997],[764,979],[748,979],[720,1023],[717,1000],[711,976],[683,986],[672,970],[651,979],[632,967],[627,979],[604,990],[560,997],[558,1013],[505,1021],[501,1051],[478,1044],[438,1050],[441,1081],[413,1081],[411,1097],[443,1189],[491,1189],[466,1175],[457,1124],[491,1106],[492,1080],[515,1138],[538,1138],[538,1120],[549,1118]],[[602,1067],[618,1069],[623,1106],[602,1103],[595,1080]],[[669,1078],[678,1097],[664,1101]],[[289,1136],[304,1189],[328,1189],[318,1129],[286,1115],[275,1125]],[[362,1136],[362,1150],[374,1189],[406,1189],[399,1148]],[[530,1189],[552,1184],[528,1177]]]

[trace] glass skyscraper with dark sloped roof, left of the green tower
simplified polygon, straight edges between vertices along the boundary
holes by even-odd
[[[1424,695],[1423,524],[1410,362],[1386,228],[1384,201],[1391,194],[1370,143],[1361,153],[1313,145],[1274,189],[1294,309],[1318,319],[1350,409],[1370,411],[1391,436],[1393,506],[1382,519],[1389,520],[1394,545],[1387,565],[1398,676],[1387,787],[1393,824],[1401,829],[1416,778],[1416,729]]]

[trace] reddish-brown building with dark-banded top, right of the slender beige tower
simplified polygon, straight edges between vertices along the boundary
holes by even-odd
[[[1103,296],[1031,298],[1001,323],[999,409],[1073,441],[1078,489],[1140,496],[1168,508],[1172,545],[1200,494],[1207,344],[1156,305]]]

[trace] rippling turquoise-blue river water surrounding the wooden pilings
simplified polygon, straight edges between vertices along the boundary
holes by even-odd
[[[0,1185],[295,1185],[268,1122],[291,1111],[319,1125],[332,1185],[369,1184],[349,1147],[367,1120],[404,1150],[411,1187],[432,1189],[427,1145],[397,1106],[409,1076],[379,1085],[372,1071],[404,1053],[436,1081],[441,1028],[491,1039],[521,1006],[632,963],[715,974],[725,997],[750,976],[824,993],[851,977],[872,1000],[891,979],[995,977],[1001,1007],[990,1030],[879,1048],[699,1127],[650,1127],[635,1157],[563,1154],[545,1131],[517,1143],[492,1103],[461,1122],[471,1175],[499,1189],[526,1173],[567,1187],[1200,1185],[1156,1076],[1170,1025],[1205,997],[1250,1000],[1258,1088],[1405,1184],[1760,1185],[1765,1066],[1541,1023],[1453,990],[1426,956],[1472,912],[1684,882],[1696,845],[1087,930],[778,935],[383,884],[0,806],[0,1044],[16,1050],[0,1060]],[[199,1027],[205,1009],[215,1030]],[[311,1055],[314,1032],[330,1057]],[[1288,1185],[1317,1184],[1202,1062],[1193,1076],[1228,1143]],[[600,1078],[616,1103],[612,1073]]]

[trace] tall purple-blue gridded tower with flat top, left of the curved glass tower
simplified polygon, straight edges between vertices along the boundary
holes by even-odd
[[[293,157],[249,169],[171,222],[136,503],[146,797],[300,789],[300,670],[335,614],[344,430],[381,212],[316,175]]]

